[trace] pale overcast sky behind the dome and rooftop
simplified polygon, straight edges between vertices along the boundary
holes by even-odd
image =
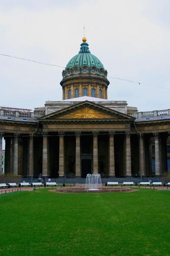
[[[66,66],[85,36],[108,70],[108,99],[170,108],[169,0],[0,0],[0,53]],[[0,56],[0,106],[61,100],[62,68]],[[163,89],[159,87],[167,87]]]

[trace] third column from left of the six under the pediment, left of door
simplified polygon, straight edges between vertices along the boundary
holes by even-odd
[[[76,134],[76,177],[81,177],[81,159],[80,159],[80,134],[81,132],[75,132]]]

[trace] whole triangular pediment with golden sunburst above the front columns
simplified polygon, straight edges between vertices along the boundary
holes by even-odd
[[[103,107],[94,102],[80,102],[62,110],[50,113],[40,119],[120,119],[133,120],[132,116]]]

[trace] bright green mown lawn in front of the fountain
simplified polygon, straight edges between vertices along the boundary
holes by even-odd
[[[0,195],[0,255],[170,256],[170,191]]]

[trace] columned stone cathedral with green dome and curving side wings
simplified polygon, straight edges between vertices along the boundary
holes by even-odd
[[[62,71],[62,100],[0,107],[0,171],[29,177],[160,177],[170,171],[170,109],[138,112],[108,100],[108,72],[86,38]]]

